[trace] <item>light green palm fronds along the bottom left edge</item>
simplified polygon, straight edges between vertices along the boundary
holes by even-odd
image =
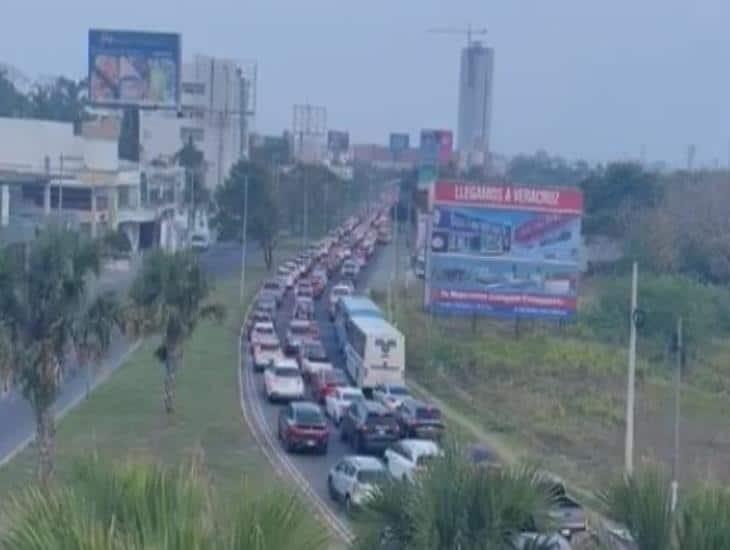
[[[234,511],[196,463],[77,463],[67,486],[28,488],[0,510],[12,550],[319,550],[328,537],[294,496],[244,486]]]

